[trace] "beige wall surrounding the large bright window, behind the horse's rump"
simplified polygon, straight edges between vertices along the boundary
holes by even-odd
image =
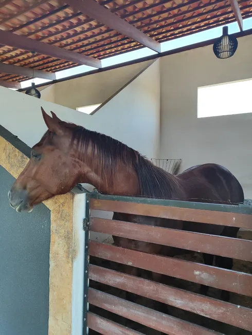
[[[182,169],[218,163],[252,198],[252,114],[197,119],[197,87],[252,78],[252,36],[236,54],[218,60],[212,46],[161,58],[160,158],[181,158]],[[232,98],[223,97],[225,99]]]

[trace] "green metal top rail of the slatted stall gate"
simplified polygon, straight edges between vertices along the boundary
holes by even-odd
[[[151,199],[151,198],[142,198],[135,196],[109,195],[109,194],[101,194],[98,192],[91,192],[89,193],[89,196],[92,199],[98,199],[98,200],[110,200],[110,201],[121,201],[121,202],[147,204],[147,205],[159,205],[168,207],[214,210],[219,212],[252,214],[251,200],[246,200],[244,203],[239,205],[223,205],[223,204],[207,204],[207,203],[178,201],[178,200]]]

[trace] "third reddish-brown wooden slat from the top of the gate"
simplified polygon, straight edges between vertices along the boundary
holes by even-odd
[[[89,254],[108,261],[252,297],[252,274],[89,242]]]

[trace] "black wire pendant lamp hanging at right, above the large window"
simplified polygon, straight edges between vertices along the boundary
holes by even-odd
[[[223,27],[222,36],[213,43],[213,52],[217,58],[229,58],[235,54],[237,47],[237,38],[228,34],[228,27]]]

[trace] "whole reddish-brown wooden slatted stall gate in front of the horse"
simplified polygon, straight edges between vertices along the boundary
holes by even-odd
[[[86,199],[87,213],[90,210],[103,210],[252,229],[252,206],[249,203],[231,206],[130,198],[98,193],[89,193]],[[84,226],[86,231],[220,255],[239,260],[240,264],[243,264],[241,270],[226,270],[195,261],[144,253],[97,241],[86,241],[86,260],[88,261],[89,258],[102,260],[104,265],[102,262],[93,264],[87,262],[88,265],[85,268],[90,283],[93,284],[88,287],[88,282],[85,282],[84,335],[88,331],[89,334],[141,335],[142,332],[139,332],[139,329],[142,331],[142,328],[136,325],[145,326],[143,333],[148,334],[245,335],[252,331],[252,268],[246,271],[246,266],[244,266],[248,264],[247,262],[252,261],[252,241],[105,220],[90,215],[87,215]],[[88,237],[88,233],[86,236]],[[214,289],[226,290],[235,293],[233,294],[235,301],[242,303],[224,302],[216,297],[201,295],[190,288],[187,290],[171,286],[169,282],[164,285],[142,277],[135,277],[123,273],[118,267],[113,268],[111,264],[130,265],[186,281],[194,286],[203,284]],[[249,266],[247,268],[249,269]],[[117,293],[108,293],[105,289],[107,287],[116,289]],[[147,298],[148,301],[166,304],[168,312],[163,313],[145,304],[122,299],[118,294],[120,290],[135,293],[138,297]],[[189,319],[179,318],[179,314],[174,317],[169,313],[169,308],[188,313]],[[107,311],[107,314],[101,311]],[[115,314],[118,317],[115,317]],[[208,322],[197,322],[195,316],[201,316],[203,321],[207,319]],[[135,322],[134,329],[121,322],[120,317]],[[225,328],[226,325],[231,330]],[[159,332],[154,330],[148,332],[148,329],[149,331],[155,329]]]

